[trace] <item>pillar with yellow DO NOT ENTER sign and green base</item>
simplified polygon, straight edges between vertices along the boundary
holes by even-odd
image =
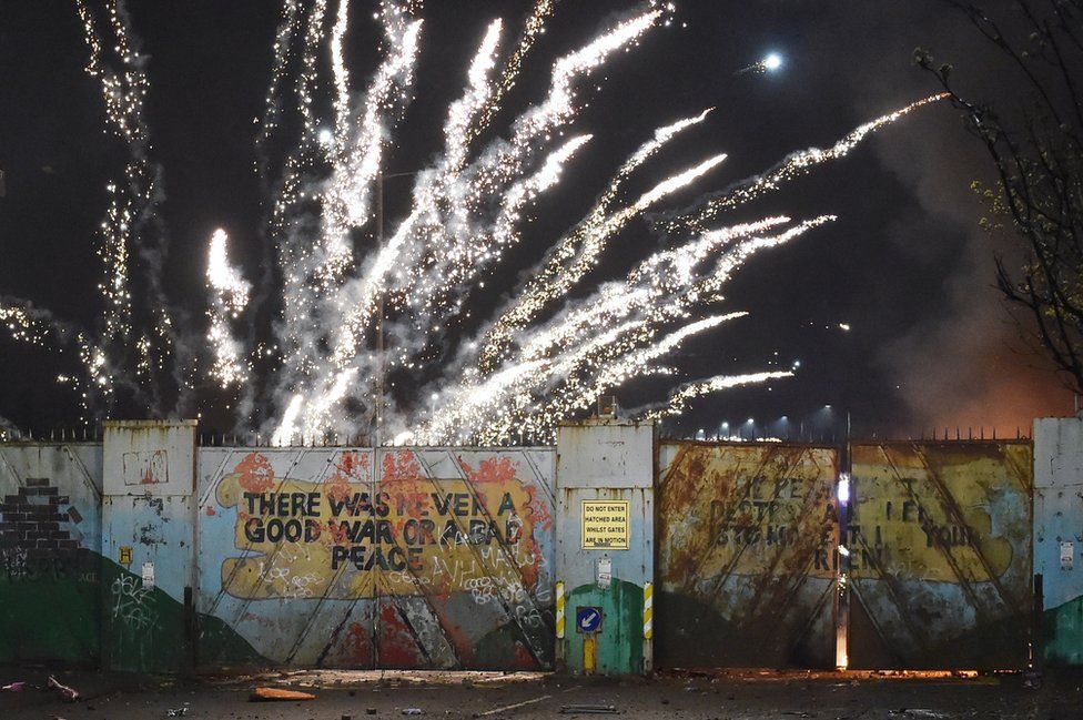
[[[564,637],[557,648],[571,673],[651,670],[645,604],[649,609],[655,579],[654,440],[651,424],[621,420],[558,430],[557,579],[565,588],[566,622],[563,632],[558,626]],[[611,533],[601,527],[607,513]],[[599,578],[600,568],[610,570],[608,581]]]

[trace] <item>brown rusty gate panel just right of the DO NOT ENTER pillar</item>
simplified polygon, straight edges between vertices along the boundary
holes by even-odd
[[[831,667],[838,452],[665,442],[657,657],[667,667]]]

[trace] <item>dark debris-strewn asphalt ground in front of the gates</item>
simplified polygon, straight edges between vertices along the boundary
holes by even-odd
[[[1083,720],[1083,675],[951,677],[839,672],[669,672],[649,680],[571,679],[477,672],[283,672],[165,679],[60,672],[74,702],[45,686],[42,668],[0,667],[0,720],[358,720],[421,717],[485,720],[621,718],[702,720]],[[1036,686],[1036,687],[1034,687]],[[253,702],[257,687],[306,691],[314,700]],[[173,711],[178,714],[170,714]]]

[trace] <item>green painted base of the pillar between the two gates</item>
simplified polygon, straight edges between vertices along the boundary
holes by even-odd
[[[613,585],[605,590],[599,590],[596,585],[581,585],[568,594],[564,660],[565,669],[571,675],[586,671],[584,635],[576,630],[576,608],[579,607],[601,608],[595,675],[642,675],[642,588],[614,578]]]

